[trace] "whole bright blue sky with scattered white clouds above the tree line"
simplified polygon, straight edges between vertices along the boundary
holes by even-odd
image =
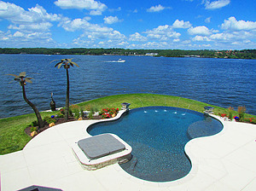
[[[256,1],[0,1],[0,48],[21,47],[256,49]]]

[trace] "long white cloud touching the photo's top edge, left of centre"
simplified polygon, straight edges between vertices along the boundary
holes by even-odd
[[[94,0],[58,0],[55,2],[55,5],[61,9],[87,9],[100,12],[107,9],[107,6],[104,3]]]

